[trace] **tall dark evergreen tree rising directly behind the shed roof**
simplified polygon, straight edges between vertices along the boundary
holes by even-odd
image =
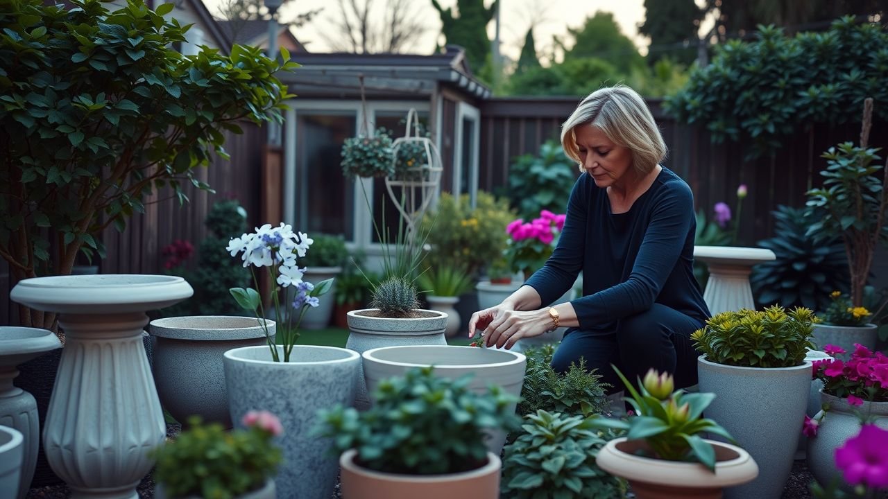
[[[476,74],[481,73],[482,67],[488,60],[490,53],[488,24],[494,18],[498,1],[494,0],[490,7],[485,7],[484,0],[457,0],[456,10],[459,12],[459,17],[456,17],[452,8],[443,9],[437,0],[432,0],[432,6],[440,14],[441,33],[446,43],[460,45],[465,49],[469,67]]]

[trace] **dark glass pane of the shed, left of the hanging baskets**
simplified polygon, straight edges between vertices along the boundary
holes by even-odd
[[[344,234],[354,241],[353,180],[339,166],[345,139],[355,134],[353,112],[297,112],[298,230]]]

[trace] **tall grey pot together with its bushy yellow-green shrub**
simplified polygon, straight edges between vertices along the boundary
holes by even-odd
[[[700,391],[718,394],[707,416],[722,422],[761,468],[755,481],[727,497],[780,497],[811,390],[805,357],[817,321],[806,308],[771,306],[718,313],[691,336],[703,353]]]

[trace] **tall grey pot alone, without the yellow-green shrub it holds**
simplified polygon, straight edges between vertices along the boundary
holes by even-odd
[[[721,424],[758,463],[758,478],[725,490],[725,498],[779,499],[805,421],[811,361],[792,368],[746,368],[702,355],[697,367],[700,392],[716,394],[705,416]]]

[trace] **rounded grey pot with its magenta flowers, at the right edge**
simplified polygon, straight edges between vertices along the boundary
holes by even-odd
[[[821,407],[813,418],[805,416],[803,432],[808,437],[808,468],[822,485],[839,480],[833,451],[860,430],[860,417],[869,424],[888,429],[888,358],[855,345],[848,355],[843,348],[826,345],[833,358],[814,360],[814,376],[823,382]],[[852,490],[852,482],[842,485]]]

